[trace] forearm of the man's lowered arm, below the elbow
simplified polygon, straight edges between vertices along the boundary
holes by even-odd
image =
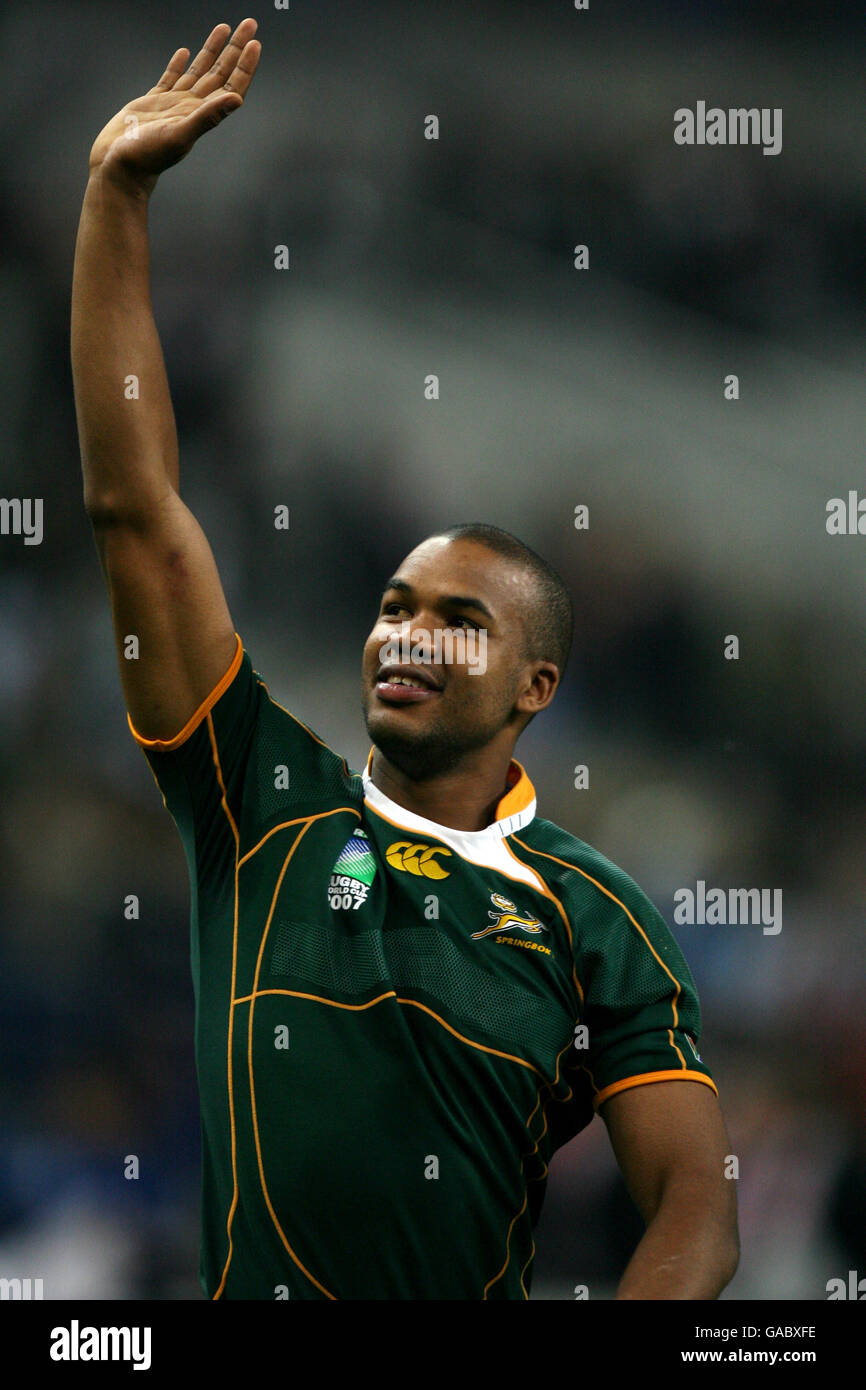
[[[617,1298],[717,1298],[740,1258],[726,1211],[703,1194],[670,1191],[628,1261]]]

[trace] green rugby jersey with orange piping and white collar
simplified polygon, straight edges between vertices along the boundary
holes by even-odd
[[[528,1298],[553,1152],[630,1086],[716,1090],[664,920],[535,815],[405,810],[238,638],[168,741],[132,726],[192,885],[211,1298]]]

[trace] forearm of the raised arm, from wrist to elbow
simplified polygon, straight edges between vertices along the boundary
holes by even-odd
[[[150,304],[147,195],[99,170],[75,246],[71,357],[85,506],[95,516],[146,512],[178,488],[174,410]]]

